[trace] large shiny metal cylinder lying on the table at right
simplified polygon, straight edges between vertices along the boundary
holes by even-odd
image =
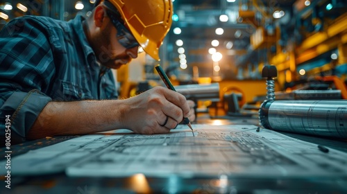
[[[266,100],[259,116],[271,130],[347,138],[347,100]]]

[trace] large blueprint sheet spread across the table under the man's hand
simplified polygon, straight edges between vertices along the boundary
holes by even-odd
[[[180,125],[168,134],[115,130],[70,139],[12,159],[13,174],[69,176],[347,177],[347,154],[255,125]],[[15,165],[16,164],[16,165]]]

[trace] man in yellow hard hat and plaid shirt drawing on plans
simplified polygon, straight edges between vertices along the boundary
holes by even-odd
[[[119,128],[154,134],[194,120],[185,97],[164,87],[117,100],[110,71],[137,58],[139,46],[159,60],[172,8],[169,0],[107,0],[87,19],[10,21],[0,32],[1,137],[7,129],[12,142]]]

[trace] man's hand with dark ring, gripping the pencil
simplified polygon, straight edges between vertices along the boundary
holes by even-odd
[[[165,133],[174,129],[184,117],[195,120],[194,102],[164,87],[154,87],[138,96],[124,100],[122,123],[139,134]],[[167,122],[165,123],[165,121]]]

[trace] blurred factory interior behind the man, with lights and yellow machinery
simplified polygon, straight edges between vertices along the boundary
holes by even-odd
[[[15,17],[69,20],[88,16],[94,1],[0,1],[0,28]],[[344,0],[174,0],[174,22],[160,48],[160,64],[175,85],[219,82],[242,103],[266,93],[262,67],[278,69],[276,91],[335,76],[342,93],[347,74],[347,3]],[[145,54],[115,73],[123,97],[144,83],[160,85]],[[153,84],[154,83],[154,84]],[[344,88],[343,88],[344,87]],[[346,92],[346,91],[345,91]],[[344,96],[342,96],[344,97]],[[223,105],[217,105],[223,109]],[[225,109],[224,109],[225,111]],[[222,112],[223,113],[223,112]]]

